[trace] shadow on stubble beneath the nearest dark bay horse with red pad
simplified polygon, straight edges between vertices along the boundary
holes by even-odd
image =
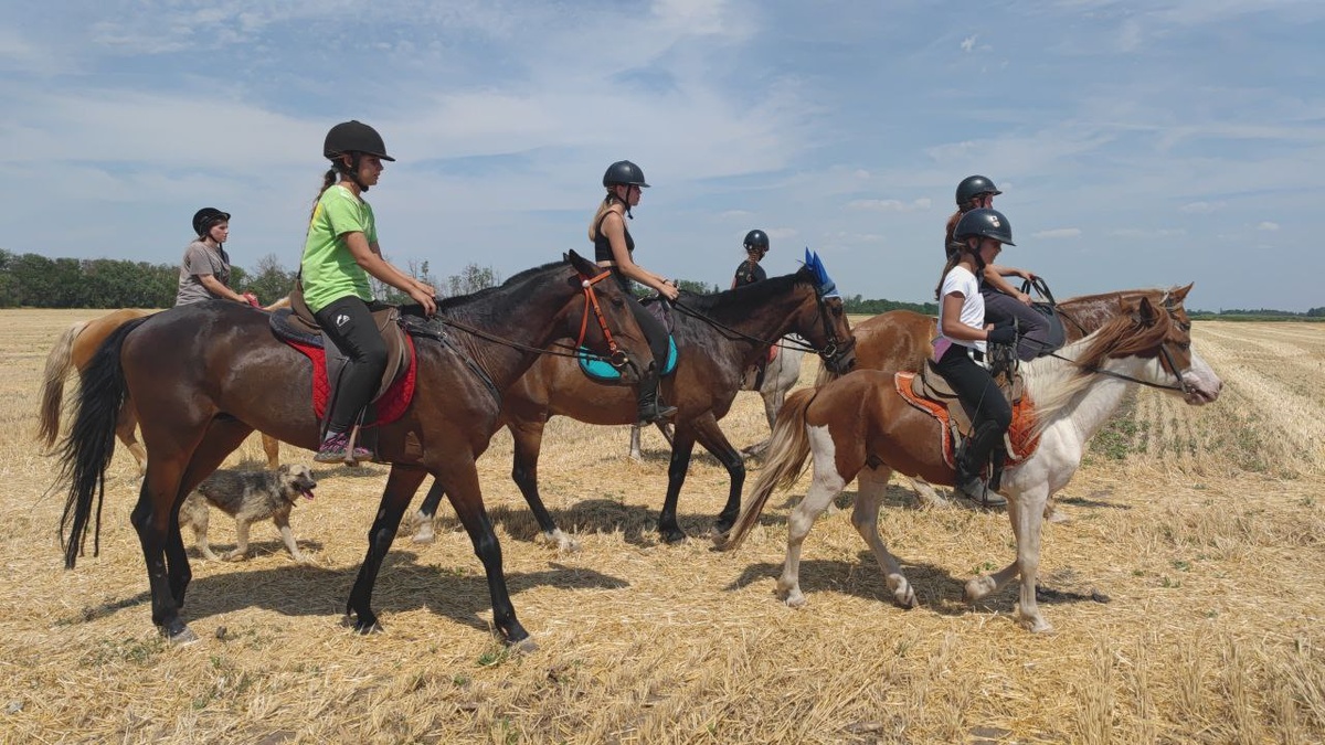
[[[186,623],[254,607],[285,616],[342,616],[359,573],[358,566],[284,565],[249,571],[242,569],[242,563],[235,567],[236,571],[193,578],[180,612]],[[629,586],[629,582],[610,574],[555,562],[549,562],[546,570],[507,571],[505,577],[511,598],[534,587],[621,590]],[[69,623],[97,620],[136,606],[142,606],[139,612],[146,612],[150,603],[151,594],[147,591],[111,598],[85,606]],[[492,626],[481,615],[492,611],[492,597],[481,565],[419,563],[419,554],[409,550],[387,554],[374,587],[372,608],[383,615],[384,627],[390,627],[392,614],[409,610],[429,610],[480,631],[489,631]]]

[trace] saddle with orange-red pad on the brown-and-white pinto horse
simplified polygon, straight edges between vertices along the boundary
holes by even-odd
[[[1011,379],[1007,375],[998,375],[995,382],[999,383],[999,390],[1012,404],[1012,424],[1007,428],[1004,444],[1007,447],[1007,465],[1016,465],[1035,455],[1035,448],[1040,444],[1039,435],[1032,435],[1035,404],[1031,396],[1026,395],[1020,374],[1012,374]],[[971,436],[971,418],[957,396],[957,391],[938,374],[933,361],[925,361],[925,369],[918,374],[896,372],[893,384],[906,403],[938,419],[943,461],[950,468],[957,468],[958,444],[962,439]]]

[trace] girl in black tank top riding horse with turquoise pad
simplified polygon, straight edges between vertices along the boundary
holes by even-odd
[[[660,422],[676,414],[674,406],[664,404],[659,398],[659,380],[661,379],[662,365],[666,363],[668,334],[662,323],[644,309],[635,300],[631,290],[631,280],[657,290],[665,300],[673,301],[677,297],[676,282],[665,280],[653,272],[635,262],[635,239],[625,227],[624,217],[633,217],[631,207],[639,204],[641,190],[649,184],[644,182],[644,171],[629,160],[617,160],[607,167],[603,174],[603,187],[607,196],[590,223],[588,239],[594,241],[594,258],[599,266],[612,272],[612,276],[631,298],[631,312],[640,330],[649,339],[649,349],[653,351],[653,365],[640,376],[639,387],[639,422]],[[604,223],[606,231],[604,231]],[[620,231],[620,232],[617,232]],[[616,239],[615,241],[612,239]],[[613,248],[613,243],[616,244]]]

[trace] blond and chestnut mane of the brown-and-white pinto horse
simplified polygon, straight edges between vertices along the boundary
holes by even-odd
[[[1126,313],[1093,334],[1064,346],[1053,357],[1039,357],[1022,369],[1027,391],[1034,391],[1035,432],[1043,432],[1064,408],[1085,391],[1109,358],[1140,355],[1154,350],[1169,333],[1167,323]]]

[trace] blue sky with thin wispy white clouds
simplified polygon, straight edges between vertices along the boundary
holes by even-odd
[[[1325,306],[1320,0],[0,0],[0,248],[294,268],[331,125],[398,160],[383,253],[444,280],[567,249],[639,163],[652,272],[726,288],[818,251],[847,296],[933,300],[957,183],[1059,298]],[[265,300],[265,298],[264,298]]]

